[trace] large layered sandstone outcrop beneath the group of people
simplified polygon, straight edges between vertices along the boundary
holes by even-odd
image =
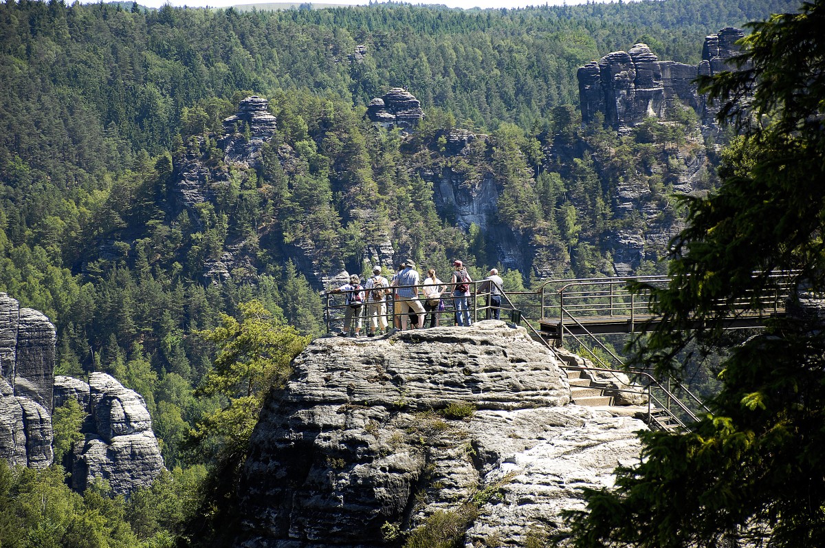
[[[318,339],[252,435],[238,546],[387,546],[382,527],[419,527],[474,494],[466,546],[524,546],[639,455],[643,423],[569,400],[554,355],[503,322]]]

